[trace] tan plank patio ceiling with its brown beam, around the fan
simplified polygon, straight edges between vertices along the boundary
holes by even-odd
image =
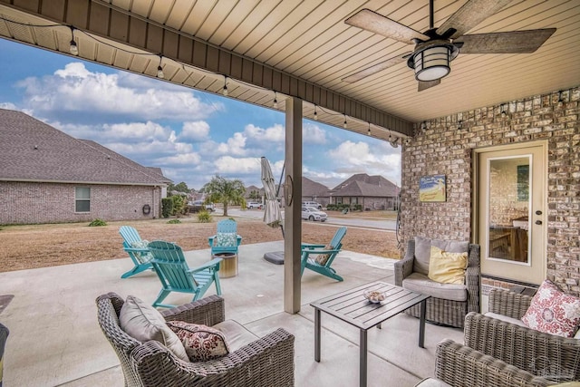
[[[465,0],[435,0],[439,26]],[[341,81],[412,50],[344,24],[362,8],[423,32],[428,0],[0,0],[0,36],[133,73],[304,116],[366,134],[412,135],[411,123],[500,105],[580,84],[580,0],[513,0],[469,34],[556,27],[536,53],[461,54],[439,86],[417,91],[406,63],[360,82]],[[22,24],[64,24],[31,27]],[[163,58],[160,61],[159,54]],[[227,76],[227,78],[225,77]],[[274,92],[276,91],[276,93]]]

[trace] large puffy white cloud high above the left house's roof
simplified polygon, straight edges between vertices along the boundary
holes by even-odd
[[[83,63],[68,63],[52,76],[27,78],[17,85],[24,89],[28,107],[45,116],[82,111],[86,116],[98,114],[102,121],[120,115],[132,121],[191,121],[223,109],[203,102],[193,91],[163,83],[126,73],[92,73]]]

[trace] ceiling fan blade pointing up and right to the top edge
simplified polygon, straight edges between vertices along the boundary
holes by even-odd
[[[512,0],[468,0],[453,15],[449,16],[437,29],[437,34],[445,34],[449,28],[455,28],[455,34],[451,39],[457,39],[466,34],[470,29],[483,22],[489,16],[497,13],[501,8],[511,3]]]

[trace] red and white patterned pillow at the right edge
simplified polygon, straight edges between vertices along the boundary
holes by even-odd
[[[546,279],[537,289],[522,321],[546,334],[573,337],[580,324],[580,298],[566,295]]]

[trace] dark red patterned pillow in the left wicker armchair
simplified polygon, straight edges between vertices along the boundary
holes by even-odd
[[[167,324],[178,335],[191,362],[206,362],[229,353],[226,336],[218,329],[185,321],[168,321]]]

